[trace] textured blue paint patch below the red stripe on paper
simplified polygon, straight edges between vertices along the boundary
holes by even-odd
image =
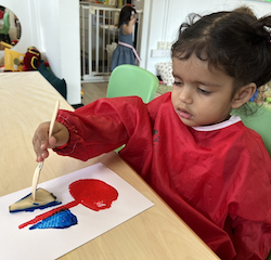
[[[56,213],[43,219],[39,223],[29,227],[35,229],[67,229],[72,225],[77,224],[77,218],[70,212],[69,209],[61,209]]]

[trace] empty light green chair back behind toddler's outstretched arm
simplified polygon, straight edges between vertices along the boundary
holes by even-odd
[[[159,81],[156,76],[134,65],[117,66],[109,78],[107,98],[138,95],[144,103],[154,99]]]

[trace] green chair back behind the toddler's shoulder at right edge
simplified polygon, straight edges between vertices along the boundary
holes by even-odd
[[[249,106],[255,108],[256,104],[249,102]],[[258,132],[271,156],[271,108],[260,106],[251,116],[244,116],[238,110],[232,110],[232,114],[240,116],[244,125]]]

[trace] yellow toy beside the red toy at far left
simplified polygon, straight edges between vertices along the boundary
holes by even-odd
[[[4,70],[23,72],[25,54],[4,49]]]

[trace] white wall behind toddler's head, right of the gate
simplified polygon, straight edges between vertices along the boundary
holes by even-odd
[[[158,41],[175,41],[181,23],[185,22],[188,14],[208,14],[216,11],[233,10],[242,4],[250,6],[257,16],[271,14],[271,3],[263,1],[242,0],[145,0],[149,16],[149,34],[145,42],[146,56],[140,65],[156,75],[155,64],[170,61],[170,54],[165,57],[152,57],[152,50],[157,49]],[[164,12],[165,10],[165,12]],[[144,12],[145,12],[144,8]],[[144,48],[144,47],[142,47]]]

